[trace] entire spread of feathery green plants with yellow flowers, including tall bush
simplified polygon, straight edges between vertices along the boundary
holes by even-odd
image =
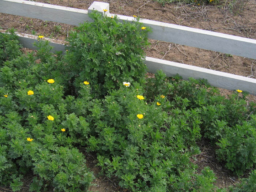
[[[147,33],[137,18],[92,14],[68,38],[65,55],[23,54],[13,31],[0,34],[0,186],[18,191],[81,191],[93,173],[78,147],[97,154],[106,176],[131,191],[225,191],[190,157],[196,142],[215,148],[220,164],[250,177],[233,191],[256,189],[256,104],[229,98],[205,80],[146,78]],[[11,173],[11,174],[10,174]]]

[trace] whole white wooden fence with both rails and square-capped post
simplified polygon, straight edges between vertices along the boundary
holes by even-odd
[[[109,4],[94,2],[89,7],[88,11],[90,12],[93,9],[96,9],[99,12],[102,12],[103,9],[109,10]],[[76,26],[84,21],[92,21],[88,16],[88,11],[33,1],[0,0],[0,12],[2,13]],[[108,16],[112,16],[112,14],[109,14],[109,11],[106,13]],[[129,16],[117,15],[117,17],[121,22],[123,20],[134,20],[133,17]],[[173,25],[148,19],[141,19],[140,22],[144,23],[145,26],[150,26],[152,28],[153,33],[149,35],[149,38],[151,39],[256,59],[255,39],[194,29],[191,27]],[[37,36],[20,33],[18,33],[18,36],[24,47],[35,49],[35,47],[33,47],[33,42],[37,39]],[[61,41],[53,39],[48,40],[51,42],[50,45],[54,47],[54,50],[65,51],[65,46]],[[215,87],[229,90],[240,89],[256,95],[256,79],[155,59],[152,57],[146,57],[145,63],[148,67],[148,72],[151,73],[154,73],[157,69],[163,69],[167,76],[179,74],[184,79],[187,79],[188,77],[193,77],[195,79],[204,78]]]

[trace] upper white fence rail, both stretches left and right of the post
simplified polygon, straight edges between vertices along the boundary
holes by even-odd
[[[102,10],[98,11],[102,12]],[[23,0],[0,0],[0,12],[76,26],[85,21],[92,21],[87,10]],[[112,15],[114,14],[108,14],[108,16]],[[130,16],[117,15],[117,17],[121,22],[134,20]],[[255,39],[148,19],[141,19],[140,22],[152,28],[153,32],[149,34],[151,39],[256,59]]]

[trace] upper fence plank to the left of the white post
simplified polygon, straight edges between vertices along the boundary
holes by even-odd
[[[87,10],[23,0],[0,0],[0,12],[76,25],[92,21]]]

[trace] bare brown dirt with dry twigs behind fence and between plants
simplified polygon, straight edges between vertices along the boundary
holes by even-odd
[[[85,10],[93,3],[93,0],[34,1]],[[234,4],[233,7],[230,7],[227,3],[214,6],[177,3],[162,6],[153,0],[105,0],[104,2],[110,4],[110,13],[113,14],[136,15],[145,19],[256,39],[256,0],[238,0],[238,3]],[[0,13],[0,27],[4,30],[14,27],[20,33],[44,35],[49,38],[65,40],[68,32],[74,26]],[[256,60],[152,39],[150,39],[150,42],[151,46],[146,50],[149,57],[256,79]],[[224,89],[220,90],[223,95],[231,93],[231,91]],[[249,96],[248,101],[256,101],[256,99]],[[191,161],[198,165],[199,173],[203,167],[210,166],[217,177],[215,185],[226,189],[238,181],[237,177],[216,163],[213,149],[207,148],[204,143],[199,143],[199,146],[202,153],[191,158]],[[84,155],[88,166],[96,176],[90,191],[128,191],[120,188],[115,178],[107,178],[99,174],[100,168],[96,166],[97,161],[93,154],[84,152]],[[0,188],[0,191],[5,190]],[[6,189],[6,191],[10,190]],[[22,191],[28,191],[28,188],[25,187]]]

